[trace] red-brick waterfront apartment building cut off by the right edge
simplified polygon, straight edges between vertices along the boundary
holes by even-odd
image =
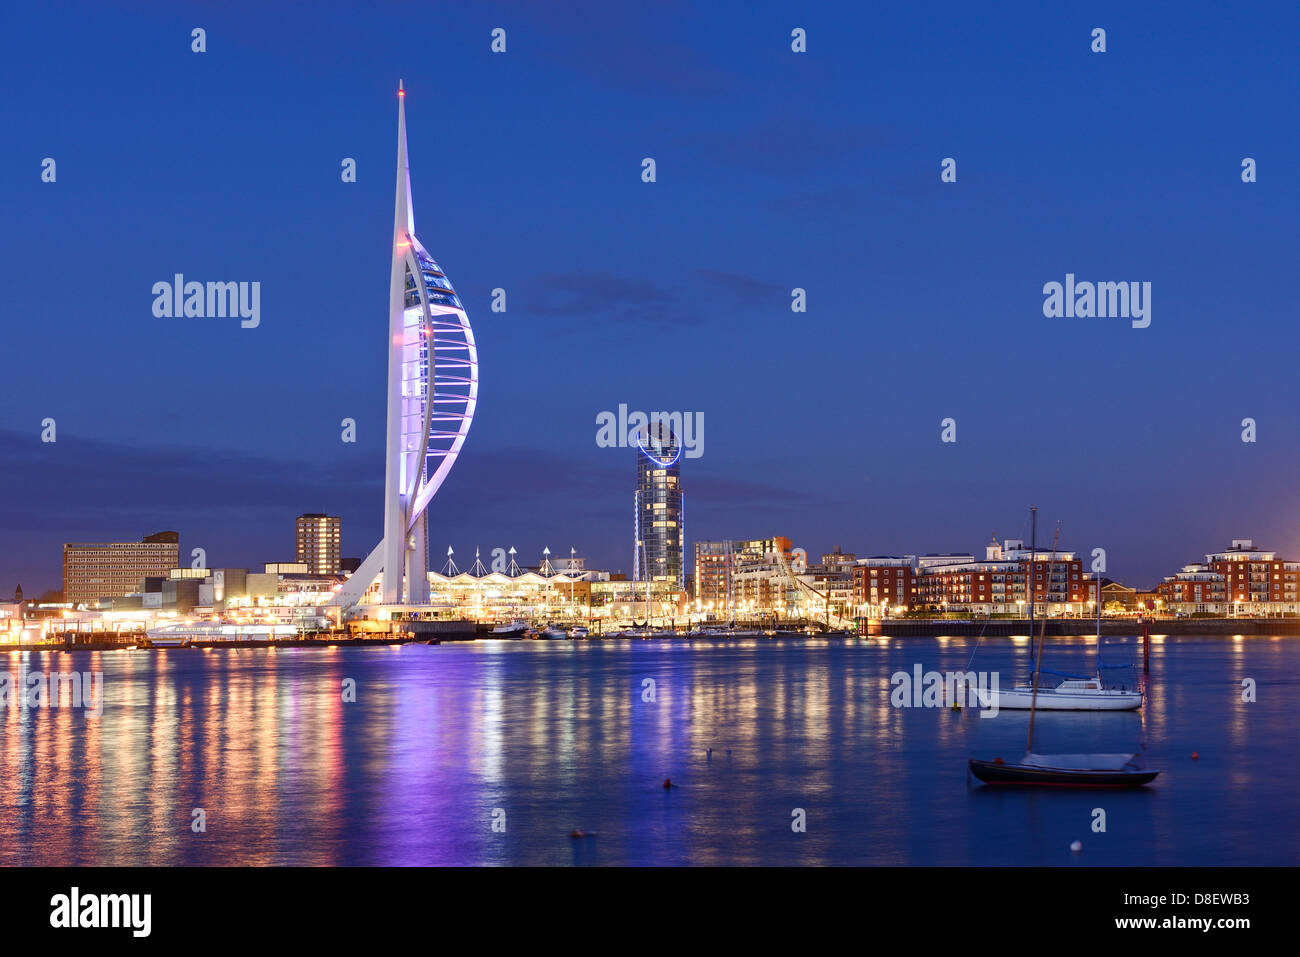
[[[1183,566],[1156,586],[1161,610],[1175,615],[1300,614],[1300,562],[1235,538],[1204,562]]]

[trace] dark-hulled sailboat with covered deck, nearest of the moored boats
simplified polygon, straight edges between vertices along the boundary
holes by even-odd
[[[1057,529],[1057,538],[1061,531]],[[1056,563],[1056,540],[1052,542],[1052,563]],[[1032,567],[1032,558],[1031,558]],[[1097,601],[1101,601],[1100,581],[1097,579]],[[1032,589],[1032,583],[1030,583]],[[1034,593],[1030,592],[1032,601]],[[1098,620],[1097,636],[1100,640],[1101,625]],[[1031,633],[1032,637],[1032,633]],[[970,758],[967,768],[972,775],[985,784],[993,785],[1050,785],[1066,788],[1140,788],[1156,779],[1160,771],[1139,767],[1136,754],[1035,754],[1034,752],[1034,716],[1039,709],[1039,675],[1043,671],[1043,646],[1046,644],[1046,620],[1043,622],[1043,636],[1039,638],[1037,653],[1034,658],[1034,685],[1030,688],[1030,733],[1024,744],[1024,757],[1015,763],[993,758],[980,761]],[[1100,677],[1097,679],[1100,685]],[[1019,690],[1019,689],[1015,689]],[[1104,690],[1104,689],[1102,689]],[[1056,694],[1058,692],[1045,692]],[[1139,693],[1139,703],[1141,696]],[[1000,706],[1006,696],[1000,696]],[[1078,709],[1072,709],[1078,710]],[[1095,710],[1095,709],[1088,709]]]

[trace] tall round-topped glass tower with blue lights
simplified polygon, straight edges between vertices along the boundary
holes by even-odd
[[[664,423],[653,423],[637,437],[633,580],[682,588],[684,505],[681,441]]]

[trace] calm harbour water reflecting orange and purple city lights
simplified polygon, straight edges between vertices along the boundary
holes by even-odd
[[[16,679],[101,671],[105,685],[99,716],[0,709],[0,863],[1300,862],[1300,638],[1157,640],[1140,713],[1037,716],[1035,750],[1140,750],[1165,770],[1131,793],[968,783],[967,757],[1023,754],[1027,715],[896,709],[889,677],[965,670],[975,645],[0,654]],[[985,638],[974,670],[1005,687],[1028,654]],[[1092,655],[1091,640],[1049,638],[1044,667]],[[1140,645],[1108,638],[1106,658],[1140,666]]]

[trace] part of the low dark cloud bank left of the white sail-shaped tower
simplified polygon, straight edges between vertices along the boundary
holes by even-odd
[[[373,503],[378,524],[382,471],[358,451],[354,462],[302,462],[68,433],[47,445],[0,430],[0,592],[10,579],[57,586],[64,542],[135,541],[161,529],[181,533],[186,563],[195,545],[212,567],[291,560],[302,512],[354,514],[356,503]],[[347,542],[348,554],[361,537]]]

